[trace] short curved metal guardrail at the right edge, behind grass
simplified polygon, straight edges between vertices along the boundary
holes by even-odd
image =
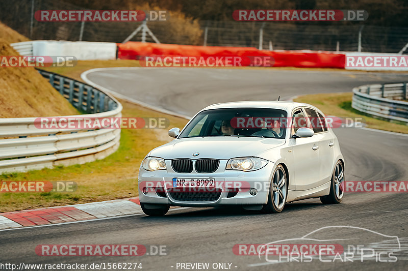
[[[408,125],[408,84],[374,84],[353,88],[351,107],[361,112]]]

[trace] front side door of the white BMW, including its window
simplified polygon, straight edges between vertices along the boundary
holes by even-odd
[[[294,182],[296,190],[308,190],[315,187],[320,175],[319,146],[316,136],[292,138],[297,129],[309,127],[308,119],[302,110],[297,108],[292,112],[292,134],[289,139],[293,153]]]

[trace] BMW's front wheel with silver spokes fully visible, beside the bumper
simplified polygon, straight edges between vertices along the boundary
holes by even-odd
[[[273,173],[269,187],[268,203],[262,207],[263,213],[281,213],[288,196],[288,178],[282,165],[278,165]]]

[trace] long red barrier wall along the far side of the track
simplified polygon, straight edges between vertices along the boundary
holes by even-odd
[[[313,51],[268,51],[253,47],[194,46],[126,42],[118,44],[118,58],[140,59],[144,56],[272,56],[273,67],[340,68],[344,69],[345,54]]]

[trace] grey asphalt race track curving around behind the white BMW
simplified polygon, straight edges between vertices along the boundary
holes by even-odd
[[[407,74],[249,69],[112,69],[88,74],[98,85],[130,98],[185,115],[212,103],[275,100],[302,94],[351,91],[354,86],[400,82]],[[346,160],[347,180],[408,180],[408,136],[365,129],[336,129]],[[135,165],[138,167],[139,165]],[[181,270],[177,262],[232,263],[233,270],[402,270],[408,266],[406,193],[348,193],[341,204],[319,200],[287,204],[277,215],[240,209],[183,208],[165,217],[130,216],[91,222],[0,231],[0,259],[19,263],[142,262],[142,270]],[[233,253],[236,244],[266,244],[300,238],[325,226],[354,226],[398,236],[396,262],[267,262]],[[367,230],[328,228],[319,238],[391,251],[384,235]],[[333,241],[332,241],[333,242]],[[353,244],[356,244],[355,240]],[[167,255],[139,257],[37,256],[40,244],[142,244],[166,246]],[[377,251],[377,250],[376,250]],[[149,252],[149,251],[148,251]],[[387,259],[387,258],[386,258]],[[173,267],[172,267],[173,266]],[[227,265],[228,266],[228,265]],[[210,268],[210,270],[213,270]]]

